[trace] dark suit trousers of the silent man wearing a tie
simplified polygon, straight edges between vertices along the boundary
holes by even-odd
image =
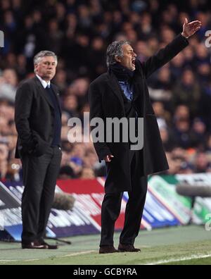
[[[51,147],[42,156],[20,154],[23,164],[22,242],[42,240],[46,233],[62,152]]]

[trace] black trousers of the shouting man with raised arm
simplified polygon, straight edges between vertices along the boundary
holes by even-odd
[[[120,243],[134,244],[139,234],[143,207],[146,201],[147,175],[140,177],[139,152],[129,151],[132,191],[124,214],[124,228],[120,235]],[[113,245],[115,221],[120,215],[123,192],[105,194],[101,209],[101,243],[100,246]]]

